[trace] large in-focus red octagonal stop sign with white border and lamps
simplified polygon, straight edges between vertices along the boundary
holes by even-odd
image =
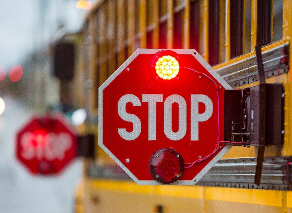
[[[99,145],[138,184],[195,184],[231,147],[225,89],[195,50],[138,49],[99,88]]]

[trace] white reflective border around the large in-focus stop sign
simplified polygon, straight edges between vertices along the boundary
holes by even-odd
[[[129,57],[124,64],[122,64],[117,71],[115,71],[99,88],[98,88],[98,145],[139,185],[169,185],[161,184],[156,180],[139,180],[117,157],[105,147],[102,143],[102,91],[112,82],[139,54],[156,54],[157,52],[166,49],[138,49],[131,57]],[[177,54],[189,54],[194,56],[205,69],[225,88],[232,89],[232,87],[208,64],[203,57],[192,49],[168,49]],[[196,52],[196,54],[194,54]],[[194,185],[201,177],[203,177],[208,170],[210,170],[215,163],[232,147],[226,145],[221,151],[192,179],[192,180],[178,180],[172,185]]]

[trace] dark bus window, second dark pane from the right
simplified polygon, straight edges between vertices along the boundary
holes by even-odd
[[[230,58],[242,54],[243,2],[230,1]]]

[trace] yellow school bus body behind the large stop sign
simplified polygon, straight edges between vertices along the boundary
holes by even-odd
[[[98,87],[138,48],[195,49],[231,87],[243,89],[259,84],[260,44],[265,81],[284,85],[284,143],[265,148],[260,186],[253,183],[256,146],[232,147],[198,185],[139,186],[95,137],[75,211],[291,212],[291,9],[292,0],[97,1],[74,38],[73,96],[88,113],[80,133],[98,135]]]

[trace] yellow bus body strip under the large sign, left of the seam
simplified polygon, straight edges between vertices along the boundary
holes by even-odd
[[[106,179],[92,180],[90,181],[90,186],[94,189],[123,191],[128,193],[144,193],[194,199],[204,198],[203,186],[137,185],[132,181],[112,181]]]

